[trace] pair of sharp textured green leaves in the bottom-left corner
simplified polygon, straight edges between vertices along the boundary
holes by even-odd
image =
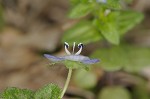
[[[48,84],[37,91],[10,87],[0,94],[0,99],[60,99],[61,89],[55,84]]]

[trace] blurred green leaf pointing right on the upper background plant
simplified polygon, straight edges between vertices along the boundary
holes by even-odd
[[[135,11],[121,11],[121,15],[118,17],[119,32],[121,34],[126,33],[132,29],[136,24],[143,20],[144,16],[142,13]]]

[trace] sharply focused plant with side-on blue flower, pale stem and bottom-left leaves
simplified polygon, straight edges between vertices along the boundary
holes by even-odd
[[[83,49],[82,43],[78,44],[79,51],[76,53],[74,53],[75,42],[74,42],[72,53],[70,53],[70,51],[68,50],[69,44],[65,42],[64,45],[65,45],[64,46],[65,51],[68,54],[67,56],[56,57],[49,54],[44,54],[44,56],[47,59],[49,59],[52,62],[52,64],[63,63],[69,69],[68,77],[63,90],[55,84],[48,84],[35,92],[28,89],[19,89],[13,87],[4,90],[4,92],[0,94],[0,98],[1,99],[62,99],[69,85],[71,75],[72,75],[72,70],[78,68],[84,68],[88,70],[91,64],[95,64],[99,62],[99,59],[90,59],[87,56],[80,55]]]

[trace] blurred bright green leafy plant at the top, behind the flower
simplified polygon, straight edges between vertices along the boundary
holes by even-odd
[[[129,1],[71,0],[68,16],[79,22],[65,31],[62,42],[88,44],[106,39],[118,45],[121,37],[143,19],[143,14],[122,7],[122,3]]]

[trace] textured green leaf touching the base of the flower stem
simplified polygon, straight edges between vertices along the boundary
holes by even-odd
[[[35,99],[60,99],[61,89],[55,84],[48,84],[35,92]]]

